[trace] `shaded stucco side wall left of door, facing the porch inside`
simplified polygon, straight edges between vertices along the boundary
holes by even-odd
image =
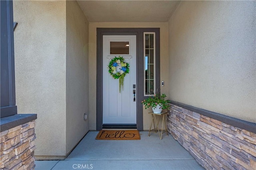
[[[66,154],[89,130],[89,22],[76,1],[66,2]]]

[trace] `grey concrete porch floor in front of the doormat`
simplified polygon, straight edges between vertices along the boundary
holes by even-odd
[[[96,140],[90,131],[65,160],[36,161],[35,170],[203,170],[196,160],[173,137],[157,133],[140,140]]]

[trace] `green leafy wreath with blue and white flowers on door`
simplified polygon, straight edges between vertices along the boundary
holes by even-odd
[[[119,93],[121,93],[121,88],[124,90],[124,76],[129,73],[129,64],[124,62],[123,57],[115,57],[108,64],[108,72],[114,79],[119,78]]]

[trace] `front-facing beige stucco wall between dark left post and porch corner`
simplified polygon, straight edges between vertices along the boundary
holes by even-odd
[[[14,1],[16,105],[36,113],[35,155],[66,154],[66,2]]]

